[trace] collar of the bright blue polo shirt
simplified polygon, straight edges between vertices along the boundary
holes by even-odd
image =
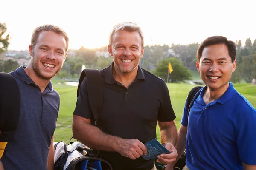
[[[204,88],[201,90],[201,92],[199,94],[199,97],[202,100],[203,100],[205,90],[206,90],[206,86],[204,86]],[[236,89],[234,88],[232,82],[229,82],[229,87],[227,88],[225,93],[222,94],[222,96],[218,100],[216,100],[215,102],[224,104],[225,102],[229,101],[234,96],[234,94],[236,94]]]

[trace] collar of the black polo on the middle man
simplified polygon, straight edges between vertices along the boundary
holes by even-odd
[[[106,68],[105,71],[105,82],[108,84],[115,84],[116,80],[113,77],[112,74],[112,67],[114,67],[114,62],[111,63],[111,65],[108,66],[108,68]],[[145,80],[145,75],[142,71],[142,69],[140,68],[140,66],[138,66],[138,72],[137,72],[137,76],[136,79],[143,79]]]

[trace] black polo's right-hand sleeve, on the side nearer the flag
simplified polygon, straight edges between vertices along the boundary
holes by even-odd
[[[169,90],[166,83],[163,83],[163,102],[159,109],[158,120],[160,122],[171,122],[176,118],[172,108]]]

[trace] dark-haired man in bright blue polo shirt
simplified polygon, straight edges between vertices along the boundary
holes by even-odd
[[[189,117],[185,104],[176,145],[180,156],[186,143],[184,169],[256,170],[256,109],[229,82],[235,57],[235,43],[222,36],[198,48],[196,66],[206,86]]]

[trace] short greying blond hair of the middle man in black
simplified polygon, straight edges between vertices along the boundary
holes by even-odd
[[[122,23],[116,24],[113,27],[113,30],[110,32],[109,45],[111,45],[113,35],[116,34],[116,32],[123,31],[123,30],[128,31],[128,32],[137,31],[140,34],[140,37],[141,37],[141,46],[142,46],[142,48],[145,46],[144,45],[144,36],[143,36],[143,33],[141,31],[140,26],[138,26],[136,23],[132,23],[132,22],[122,22]]]

